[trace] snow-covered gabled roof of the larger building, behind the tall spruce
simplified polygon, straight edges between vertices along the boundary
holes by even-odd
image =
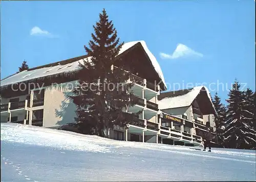
[[[162,82],[165,86],[165,89],[166,89],[166,84],[164,81],[164,77],[163,77],[163,73],[160,68],[160,65],[157,62],[154,55],[150,52],[150,50],[148,50],[145,41],[142,40],[142,41],[133,41],[133,42],[125,43],[123,45],[123,47],[121,48],[119,55],[121,55],[123,52],[129,50],[130,48],[134,47],[134,45],[137,43],[140,43],[141,46],[143,47],[148,58],[150,59],[152,66],[155,69],[155,72],[158,74],[160,80],[162,80]],[[10,84],[14,84],[14,83],[18,83],[18,82],[29,81],[29,80],[43,78],[43,77],[47,77],[47,76],[54,76],[54,75],[57,75],[60,73],[67,73],[67,72],[72,72],[72,71],[78,70],[79,62],[82,63],[82,61],[87,58],[90,60],[90,57],[88,57],[87,55],[84,55],[84,56],[79,56],[79,57],[75,57],[75,58],[71,58],[71,59],[67,59],[67,60],[63,60],[63,61],[58,61],[58,62],[51,63],[51,64],[34,67],[32,69],[14,74],[12,76],[9,76],[9,77],[1,80],[1,87],[5,87]]]

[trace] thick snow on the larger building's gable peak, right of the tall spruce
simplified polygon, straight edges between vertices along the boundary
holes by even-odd
[[[133,41],[133,42],[127,42],[123,45],[123,47],[121,48],[119,54],[123,53],[124,51],[126,51],[127,49],[133,47],[133,45],[135,45],[136,43],[140,42],[143,49],[145,50],[147,56],[150,58],[152,65],[155,69],[155,71],[157,72],[159,78],[162,80],[164,86],[167,88],[165,80],[164,80],[164,76],[163,76],[163,72],[161,70],[161,67],[157,61],[157,59],[155,58],[155,56],[150,52],[150,50],[147,48],[146,46],[146,42],[144,40],[139,40],[139,41]]]

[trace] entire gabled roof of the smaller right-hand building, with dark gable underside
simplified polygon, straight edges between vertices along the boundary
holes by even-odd
[[[205,86],[196,86],[190,89],[160,93],[158,105],[161,110],[187,107],[190,106],[195,99],[199,102],[199,106],[201,105],[202,110],[216,113],[209,90]]]

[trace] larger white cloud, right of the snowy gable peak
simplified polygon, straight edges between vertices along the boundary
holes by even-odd
[[[160,57],[162,59],[178,59],[181,57],[191,57],[191,56],[203,57],[203,54],[188,48],[186,45],[182,43],[179,43],[177,45],[173,54],[160,53]]]

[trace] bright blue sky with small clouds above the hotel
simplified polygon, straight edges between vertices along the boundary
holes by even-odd
[[[1,78],[18,71],[24,59],[35,67],[86,54],[83,46],[105,8],[121,41],[146,42],[168,89],[203,84],[212,95],[219,90],[224,102],[234,78],[255,90],[254,4],[252,0],[1,2]]]

